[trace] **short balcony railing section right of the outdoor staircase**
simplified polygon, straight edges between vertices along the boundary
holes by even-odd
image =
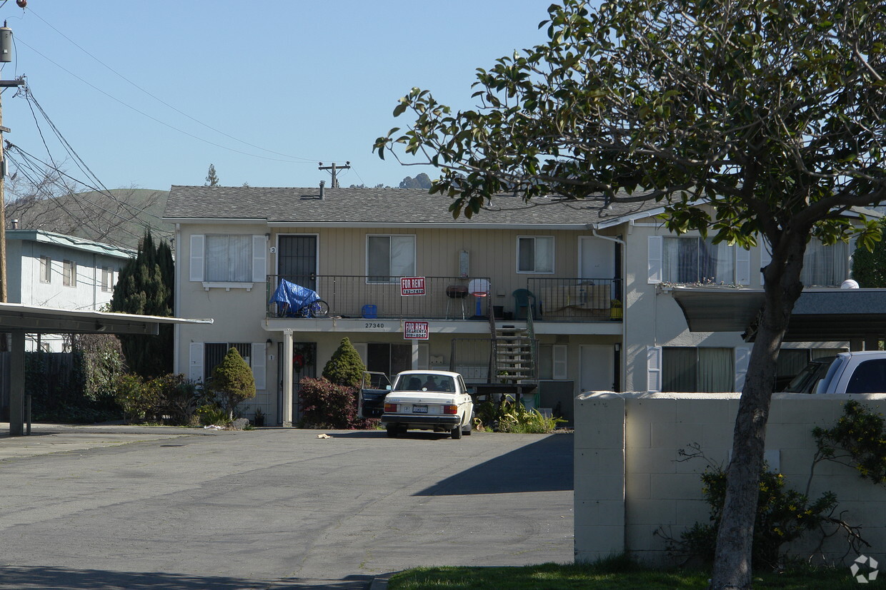
[[[621,321],[624,295],[621,279],[541,279],[527,281],[532,318],[540,321]],[[517,318],[525,318],[517,310]]]

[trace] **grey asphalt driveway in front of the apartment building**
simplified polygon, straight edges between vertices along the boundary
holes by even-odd
[[[5,433],[3,589],[345,589],[416,565],[572,561],[571,434]]]

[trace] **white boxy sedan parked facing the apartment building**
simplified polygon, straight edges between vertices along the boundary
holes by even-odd
[[[460,439],[462,433],[470,434],[473,413],[473,400],[459,373],[404,371],[385,395],[381,423],[391,437],[418,428]]]

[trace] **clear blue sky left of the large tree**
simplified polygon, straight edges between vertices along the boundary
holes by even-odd
[[[107,188],[201,185],[210,163],[226,186],[316,186],[329,179],[320,161],[351,162],[342,186],[396,187],[435,177],[372,153],[377,136],[406,123],[392,117],[397,99],[417,86],[473,107],[476,68],[542,42],[548,4],[28,0],[22,10],[0,0],[15,38],[2,77],[27,75]],[[4,138],[85,180],[38,113],[47,152],[14,94],[2,96]]]

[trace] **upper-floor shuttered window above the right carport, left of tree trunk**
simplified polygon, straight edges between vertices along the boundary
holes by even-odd
[[[663,280],[670,283],[735,282],[734,249],[699,237],[664,238]]]

